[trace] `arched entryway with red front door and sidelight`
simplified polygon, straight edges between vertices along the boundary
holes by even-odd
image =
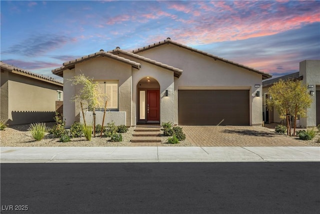
[[[160,122],[160,85],[152,77],[137,83],[137,123]]]

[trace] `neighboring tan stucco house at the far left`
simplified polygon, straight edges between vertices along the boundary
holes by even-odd
[[[8,125],[53,121],[63,84],[1,62],[0,118]]]

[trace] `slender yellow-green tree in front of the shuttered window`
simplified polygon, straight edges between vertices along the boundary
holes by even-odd
[[[82,88],[73,97],[73,101],[80,101],[81,111],[83,116],[84,126],[86,126],[84,119],[84,112],[82,107],[82,101],[87,103],[88,108],[92,109],[93,115],[93,136],[95,136],[95,108],[101,107],[103,105],[104,94],[101,93],[99,84],[93,82],[93,78],[85,77],[83,74],[78,74],[71,79],[71,85],[81,85]]]

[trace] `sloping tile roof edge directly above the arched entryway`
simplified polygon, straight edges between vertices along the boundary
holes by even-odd
[[[156,66],[159,66],[159,67],[168,69],[168,70],[174,72],[174,76],[175,76],[175,77],[180,77],[181,74],[182,74],[182,70],[181,70],[181,69],[174,68],[173,66],[169,66],[169,65],[166,65],[166,64],[157,62],[157,61],[155,61],[155,60],[151,60],[151,59],[149,59],[149,58],[146,58],[146,57],[143,57],[143,56],[140,56],[140,55],[137,55],[137,54],[128,52],[128,51],[121,50],[121,49],[119,49],[119,48],[113,49],[112,51],[108,51],[108,53],[112,53],[112,54],[121,53],[121,54],[124,54],[124,55],[126,55],[126,56],[129,56],[129,57],[132,57],[132,58],[135,58],[135,59],[138,59],[138,60],[147,62],[147,63],[151,63],[151,64],[153,64],[153,65],[156,65]]]

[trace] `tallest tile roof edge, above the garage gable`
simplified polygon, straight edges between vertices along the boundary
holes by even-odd
[[[204,56],[213,58],[214,60],[219,60],[219,61],[222,61],[222,62],[231,64],[231,65],[234,65],[234,66],[237,66],[237,67],[246,69],[246,70],[248,70],[248,71],[252,71],[252,72],[261,74],[261,75],[262,75],[262,80],[265,80],[265,79],[268,79],[268,78],[271,78],[271,77],[272,77],[271,74],[264,73],[264,72],[258,71],[258,70],[256,70],[256,69],[249,68],[249,67],[247,67],[247,66],[244,66],[244,65],[241,65],[241,64],[238,64],[238,63],[235,63],[235,62],[232,62],[232,61],[229,61],[229,60],[226,60],[226,59],[223,59],[223,58],[214,56],[214,55],[212,55],[212,54],[209,54],[209,53],[206,53],[206,52],[203,52],[203,51],[200,51],[200,50],[197,50],[197,49],[194,49],[194,48],[191,48],[191,47],[182,45],[182,44],[180,44],[180,43],[177,43],[177,42],[172,41],[171,39],[166,39],[166,40],[160,41],[160,42],[158,42],[158,43],[153,43],[153,44],[151,44],[151,45],[148,45],[148,46],[144,46],[144,47],[142,47],[142,48],[135,49],[135,50],[132,51],[132,53],[143,52],[143,51],[145,51],[145,50],[148,50],[148,49],[151,49],[151,48],[155,48],[155,47],[158,47],[158,46],[161,46],[161,45],[164,45],[164,44],[172,44],[172,45],[175,45],[175,46],[178,46],[178,47],[181,47],[181,48],[185,48],[185,49],[190,50],[190,51],[192,51],[192,52],[196,52],[196,53],[198,53],[198,54],[202,54],[202,55],[204,55]]]

